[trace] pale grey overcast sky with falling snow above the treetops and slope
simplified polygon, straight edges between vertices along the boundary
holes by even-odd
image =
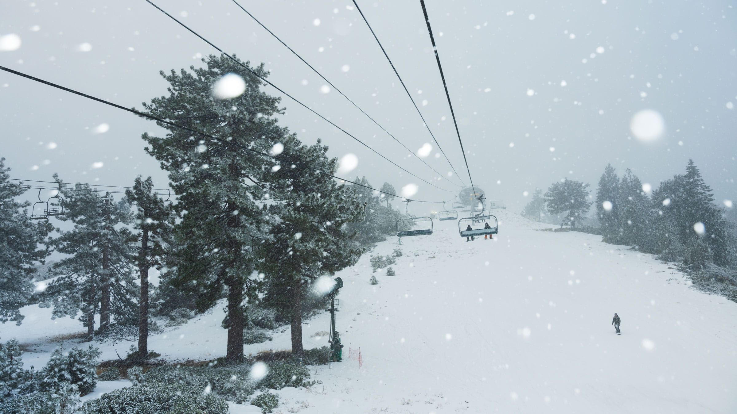
[[[324,93],[324,81],[233,1],[154,2],[226,52],[264,62],[271,82],[392,161],[436,177],[340,94]],[[425,161],[447,177],[449,164],[436,158],[436,144],[351,1],[240,3],[411,150],[432,144]],[[358,4],[460,174],[437,182],[453,191],[402,173],[287,97],[280,123],[307,143],[321,138],[332,156],[357,155],[351,178],[365,175],[377,188],[416,183],[413,198],[449,200],[458,178],[469,178],[419,1]],[[524,192],[565,177],[595,191],[607,163],[657,186],[682,173],[688,158],[718,202],[737,199],[734,1],[426,4],[472,178],[489,200],[520,211]],[[0,66],[126,107],[167,94],[158,71],[200,66],[199,57],[217,53],[144,0],[2,0],[0,46],[14,49],[9,34],[21,46],[0,52]],[[640,110],[660,113],[662,136],[633,135]],[[109,129],[100,132],[100,124]],[[0,156],[13,178],[50,180],[58,172],[67,182],[128,186],[136,175],[152,175],[158,188],[167,186],[140,138],[161,131],[122,110],[0,72],[0,125]]]

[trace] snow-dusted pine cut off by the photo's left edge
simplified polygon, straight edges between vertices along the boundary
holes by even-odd
[[[30,203],[14,200],[27,187],[8,180],[10,168],[4,163],[5,158],[0,158],[0,322],[20,325],[23,315],[19,309],[28,304],[33,293],[33,264],[43,263],[49,255],[48,249],[38,245],[53,226],[46,220],[29,220]]]

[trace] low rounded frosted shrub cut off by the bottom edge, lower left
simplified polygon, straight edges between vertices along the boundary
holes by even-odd
[[[95,414],[198,413],[227,414],[228,404],[204,387],[181,384],[142,384],[102,394],[90,403]]]

